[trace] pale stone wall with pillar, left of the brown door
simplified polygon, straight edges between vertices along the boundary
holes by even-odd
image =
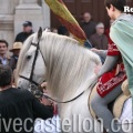
[[[43,0],[0,0],[0,39],[9,42],[9,49],[27,20],[33,23],[34,32],[50,27],[50,9]]]

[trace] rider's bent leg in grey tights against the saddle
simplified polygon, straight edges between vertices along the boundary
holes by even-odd
[[[114,133],[111,127],[111,123],[114,117],[111,111],[108,109],[108,104],[112,102],[113,100],[115,100],[121,93],[122,93],[122,90],[121,90],[121,84],[120,84],[104,98],[101,98],[99,93],[96,93],[91,101],[91,106],[93,111],[96,113],[98,117],[101,117],[103,120],[103,126],[106,130],[109,129],[109,133]],[[116,124],[114,122],[112,124],[113,124],[112,125],[113,129],[116,130],[117,129]],[[119,131],[115,133],[122,133],[122,132]]]

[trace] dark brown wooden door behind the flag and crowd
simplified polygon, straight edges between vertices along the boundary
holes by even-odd
[[[82,14],[84,12],[90,12],[92,19],[95,22],[103,22],[105,28],[109,27],[110,18],[108,17],[108,12],[105,10],[104,0],[62,0],[74,18],[80,23],[82,21]],[[133,0],[126,0],[127,6],[133,8]],[[51,27],[60,27],[59,20],[51,12]]]

